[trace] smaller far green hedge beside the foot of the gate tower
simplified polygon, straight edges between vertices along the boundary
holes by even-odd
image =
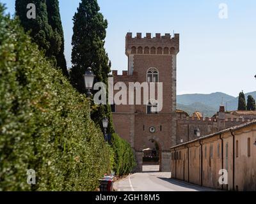
[[[127,175],[134,170],[136,161],[131,145],[117,134],[111,137],[112,147],[115,152],[115,165],[113,170],[116,175]]]

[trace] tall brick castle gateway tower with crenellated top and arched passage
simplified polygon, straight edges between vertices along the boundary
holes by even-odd
[[[163,83],[163,106],[158,109],[156,98],[150,98],[148,104],[115,105],[113,122],[116,133],[131,143],[138,163],[137,171],[142,171],[143,162],[157,158],[160,171],[170,171],[170,147],[176,145],[176,63],[179,53],[179,34],[150,33],[141,38],[137,33],[126,35],[125,54],[128,57],[128,71],[118,75],[113,71],[114,84],[124,82]],[[134,89],[134,92],[136,90]],[[141,100],[143,101],[141,91]],[[134,94],[136,95],[136,94]],[[128,97],[128,96],[127,96]],[[136,98],[134,98],[136,100]],[[150,151],[151,150],[151,151]],[[150,154],[147,152],[150,151]],[[144,160],[143,160],[144,157]]]

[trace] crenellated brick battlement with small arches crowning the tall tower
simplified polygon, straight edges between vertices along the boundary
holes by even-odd
[[[132,33],[126,35],[125,54],[147,54],[147,55],[173,55],[179,53],[179,34],[170,33],[161,36],[161,33],[156,33],[152,38],[151,33],[146,33],[142,37],[141,33],[137,33],[132,38]]]

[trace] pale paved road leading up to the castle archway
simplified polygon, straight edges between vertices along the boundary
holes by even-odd
[[[213,191],[212,189],[194,186],[170,179],[170,172],[135,173],[114,183],[117,191]]]

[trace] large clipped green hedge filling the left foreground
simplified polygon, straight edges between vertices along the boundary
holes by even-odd
[[[88,101],[3,12],[0,5],[0,191],[93,191],[113,161]]]

